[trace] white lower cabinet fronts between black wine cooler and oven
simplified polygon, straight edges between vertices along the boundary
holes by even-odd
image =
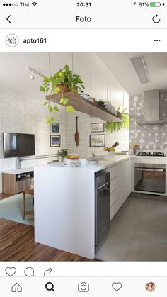
[[[131,159],[106,169],[110,172],[110,220],[131,193],[131,170]]]

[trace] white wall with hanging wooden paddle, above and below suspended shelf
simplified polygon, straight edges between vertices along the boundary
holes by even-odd
[[[104,101],[108,99],[115,108],[121,106],[121,111],[127,108],[127,112],[129,112],[129,95],[96,54],[75,53],[74,72],[81,74],[87,94]],[[76,116],[79,116],[79,147],[76,147],[74,142]],[[72,115],[67,114],[67,148],[69,152],[79,152],[80,157],[91,157],[90,134],[105,134],[106,147],[119,142],[120,145],[116,151],[129,150],[129,129],[120,130],[118,133],[91,133],[91,123],[103,123],[103,121],[79,112]],[[96,155],[102,153],[103,148],[95,148]]]

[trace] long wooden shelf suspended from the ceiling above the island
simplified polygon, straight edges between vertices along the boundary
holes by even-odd
[[[69,99],[69,104],[74,107],[75,111],[80,111],[81,113],[86,113],[89,116],[94,116],[100,118],[103,121],[114,121],[121,122],[121,113],[117,113],[117,116],[114,113],[111,113],[107,109],[101,108],[97,103],[93,103],[88,99],[83,98],[79,94],[74,92],[64,93],[64,97]],[[49,95],[46,96],[47,100],[50,100],[54,103],[59,104],[61,94],[58,95]]]

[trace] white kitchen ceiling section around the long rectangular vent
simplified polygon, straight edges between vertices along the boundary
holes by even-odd
[[[131,57],[144,56],[150,83],[139,82]],[[144,94],[151,89],[167,90],[167,53],[99,53],[98,57],[114,74],[129,95]]]

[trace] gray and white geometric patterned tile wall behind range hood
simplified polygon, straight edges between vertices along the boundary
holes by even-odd
[[[137,125],[144,120],[144,95],[130,97],[130,142],[139,150],[164,150],[167,148],[167,125]],[[167,120],[167,94],[160,93],[160,118]]]

